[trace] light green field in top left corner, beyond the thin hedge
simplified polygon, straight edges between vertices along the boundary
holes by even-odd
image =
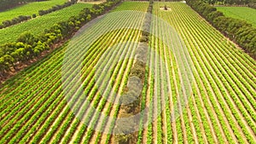
[[[38,15],[38,10],[50,9],[52,6],[55,6],[56,4],[61,5],[65,2],[67,2],[67,0],[49,0],[44,2],[26,3],[14,9],[8,9],[3,12],[0,12],[0,23],[2,23],[4,20],[12,20],[13,18],[18,17],[19,15]]]

